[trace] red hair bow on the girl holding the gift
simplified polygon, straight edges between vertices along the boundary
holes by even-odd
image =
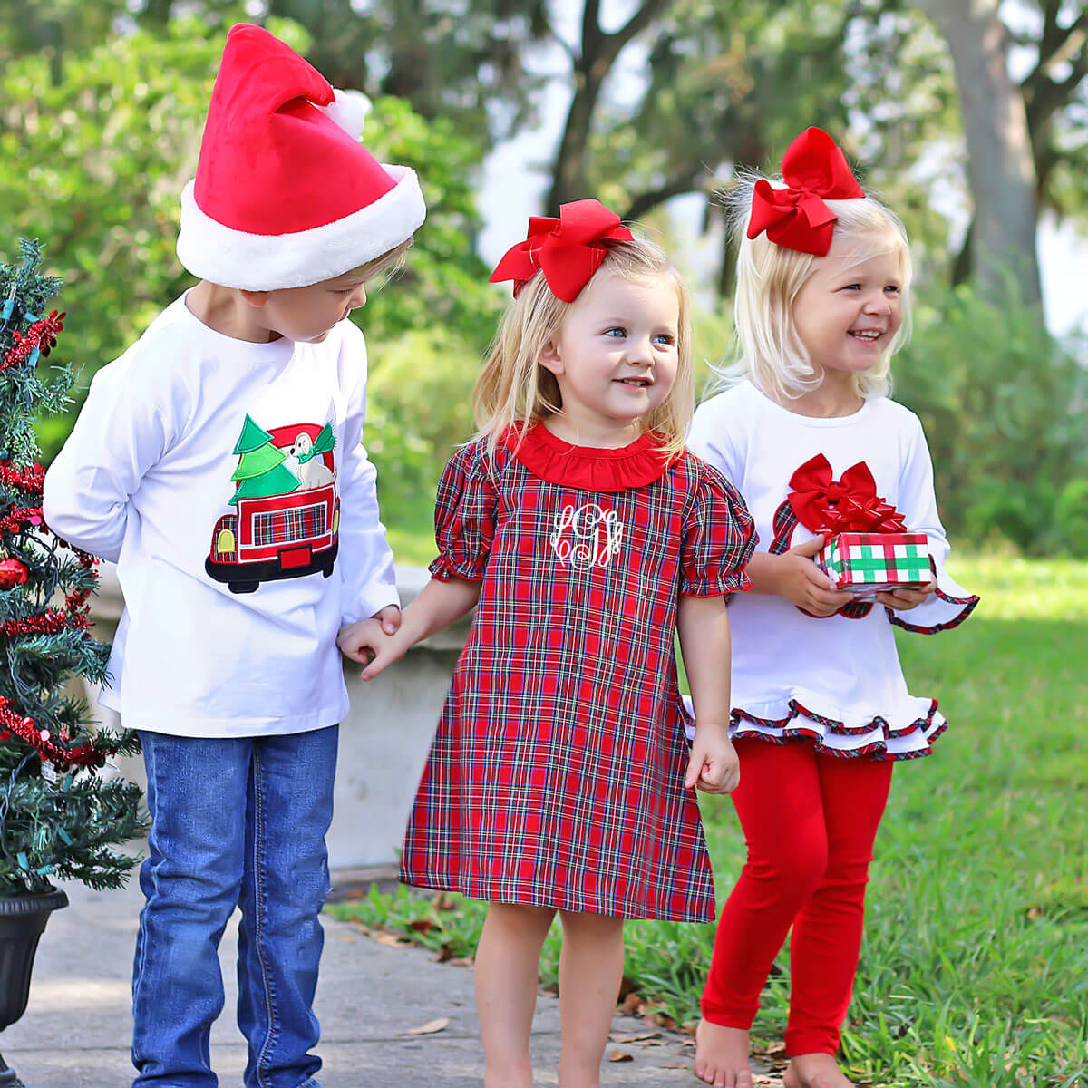
[[[838,217],[824,202],[864,197],[842,148],[823,128],[806,128],[782,156],[787,188],[772,188],[761,177],[752,195],[747,236],[764,231],[776,245],[825,257]]]

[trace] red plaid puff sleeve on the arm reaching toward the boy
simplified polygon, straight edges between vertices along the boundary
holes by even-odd
[[[495,471],[480,442],[459,449],[446,465],[434,503],[438,556],[430,566],[438,581],[483,581],[495,536]]]

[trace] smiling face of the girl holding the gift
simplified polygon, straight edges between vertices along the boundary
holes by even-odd
[[[817,374],[857,374],[875,367],[903,323],[903,275],[895,249],[857,262],[836,235],[828,255],[793,301],[793,324]]]

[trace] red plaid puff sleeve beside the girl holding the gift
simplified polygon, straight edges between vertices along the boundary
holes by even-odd
[[[755,524],[740,492],[713,466],[691,458],[694,494],[684,511],[680,592],[727,596],[746,590],[744,570],[756,545]]]

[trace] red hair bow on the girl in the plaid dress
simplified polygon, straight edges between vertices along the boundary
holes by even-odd
[[[620,218],[599,200],[560,205],[559,218],[533,215],[529,236],[511,246],[491,274],[492,283],[514,281],[514,297],[540,271],[552,294],[573,302],[605,259],[605,242],[631,242]]]

